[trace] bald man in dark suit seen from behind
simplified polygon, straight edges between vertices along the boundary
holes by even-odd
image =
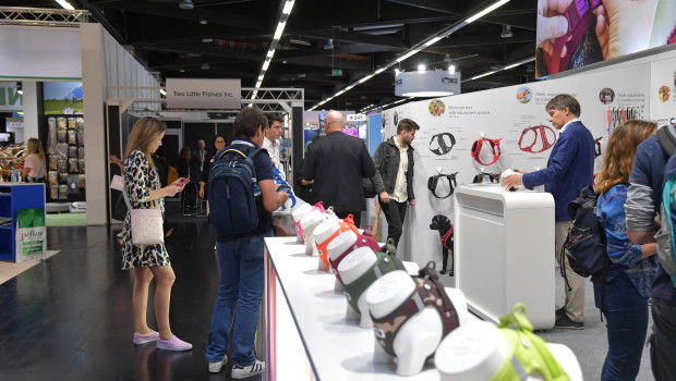
[[[313,204],[324,201],[339,218],[352,213],[359,226],[361,212],[366,210],[362,179],[373,177],[375,165],[364,142],[342,133],[343,124],[340,112],[326,114],[326,136],[307,148],[303,180],[314,181]]]

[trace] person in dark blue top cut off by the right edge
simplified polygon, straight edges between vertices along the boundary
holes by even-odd
[[[666,128],[665,132],[676,135],[676,126]],[[668,159],[657,135],[647,138],[637,148],[625,204],[627,236],[635,244],[655,242],[655,233],[660,230],[655,217],[662,207],[662,186]],[[671,243],[659,241],[659,260],[671,256]],[[676,380],[676,287],[662,266],[650,291],[653,332],[649,342],[653,377],[657,381]]]

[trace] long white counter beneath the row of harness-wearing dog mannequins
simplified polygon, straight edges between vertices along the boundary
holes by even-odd
[[[413,377],[373,364],[373,329],[346,321],[336,276],[317,270],[295,237],[265,238],[266,380],[439,380],[433,361]]]

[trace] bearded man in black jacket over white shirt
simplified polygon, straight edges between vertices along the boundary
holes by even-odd
[[[381,143],[375,150],[373,185],[378,194],[381,209],[387,220],[387,238],[399,245],[407,204],[415,205],[413,194],[413,147],[420,126],[410,119],[397,125],[397,135]]]

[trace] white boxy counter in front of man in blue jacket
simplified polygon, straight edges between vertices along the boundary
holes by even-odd
[[[554,198],[498,184],[456,188],[456,287],[470,311],[497,322],[523,303],[535,329],[554,327]]]

